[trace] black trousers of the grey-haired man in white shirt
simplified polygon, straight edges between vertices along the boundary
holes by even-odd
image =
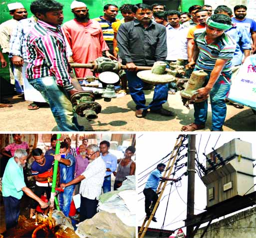
[[[98,203],[96,198],[92,200],[81,195],[80,222],[92,218],[97,213]]]

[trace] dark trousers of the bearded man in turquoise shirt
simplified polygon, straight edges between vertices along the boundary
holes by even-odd
[[[18,223],[20,200],[12,196],[3,197],[6,230]]]

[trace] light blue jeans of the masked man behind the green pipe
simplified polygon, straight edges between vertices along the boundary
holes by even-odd
[[[74,191],[74,185],[71,185],[71,186],[65,187],[64,192],[59,194],[59,208],[66,217],[68,217],[69,215],[73,191]]]

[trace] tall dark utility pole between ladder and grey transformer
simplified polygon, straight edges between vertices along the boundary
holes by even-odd
[[[196,155],[196,135],[189,135],[188,146],[188,195],[187,195],[187,220],[194,216],[195,204],[195,155]],[[187,238],[193,238],[193,226],[187,227]]]

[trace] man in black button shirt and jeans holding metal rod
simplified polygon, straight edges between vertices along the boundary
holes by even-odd
[[[166,29],[151,20],[151,6],[143,3],[134,5],[134,21],[122,24],[117,33],[117,42],[122,63],[126,65],[126,76],[130,95],[136,104],[135,116],[144,118],[148,109],[152,113],[174,116],[174,113],[163,109],[167,101],[168,84],[156,85],[153,101],[146,106],[143,92],[143,81],[137,77],[137,65],[152,66],[155,61],[164,61],[167,56]],[[145,47],[147,45],[147,47]],[[144,50],[142,50],[144,49]],[[140,52],[138,54],[138,52]]]

